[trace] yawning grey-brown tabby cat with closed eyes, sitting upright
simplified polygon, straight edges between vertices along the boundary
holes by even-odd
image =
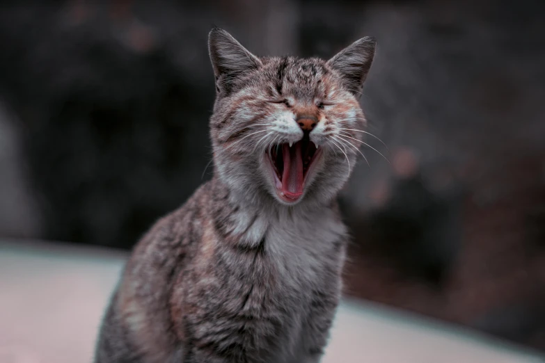
[[[209,51],[214,176],[137,243],[95,363],[319,362],[347,229],[336,195],[365,134],[376,41],[329,61],[258,57],[222,29]]]

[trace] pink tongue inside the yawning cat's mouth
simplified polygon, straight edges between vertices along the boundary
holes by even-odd
[[[282,192],[286,197],[297,199],[303,194],[303,157],[301,142],[292,147],[282,145],[284,173],[282,175]]]

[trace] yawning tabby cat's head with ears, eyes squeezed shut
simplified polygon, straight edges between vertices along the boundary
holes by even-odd
[[[358,99],[375,47],[362,38],[329,61],[258,57],[213,29],[216,177],[255,202],[330,201],[356,164],[366,126]]]

